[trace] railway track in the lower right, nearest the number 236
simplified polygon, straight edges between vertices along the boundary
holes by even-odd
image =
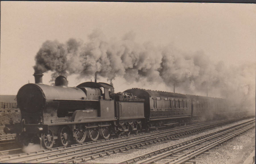
[[[255,127],[255,119],[118,163],[183,163]]]

